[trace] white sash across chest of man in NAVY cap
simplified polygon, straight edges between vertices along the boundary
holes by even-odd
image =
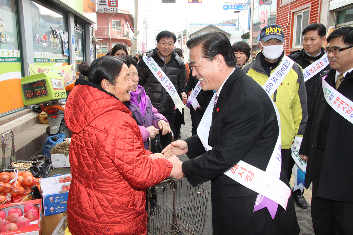
[[[281,63],[276,67],[275,71],[272,72],[270,77],[262,86],[262,88],[264,88],[269,97],[271,97],[271,95],[281,85],[281,82],[283,81],[283,79],[285,79],[285,77],[289,73],[289,70],[291,70],[291,68],[293,67],[293,64],[294,61],[291,58],[286,55],[283,56]]]

